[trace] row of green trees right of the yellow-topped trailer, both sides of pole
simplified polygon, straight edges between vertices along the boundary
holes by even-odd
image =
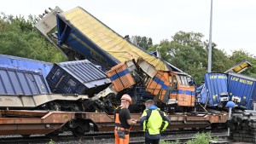
[[[171,41],[164,39],[160,44],[150,46],[148,51],[158,49],[164,60],[189,73],[197,84],[201,84],[208,66],[208,42],[203,41],[203,37],[201,33],[180,31]],[[225,72],[242,60],[249,60],[253,66],[243,73],[256,77],[255,59],[255,56],[243,50],[234,51],[231,56],[227,55],[224,50],[217,49],[216,43],[212,43],[212,72]]]

